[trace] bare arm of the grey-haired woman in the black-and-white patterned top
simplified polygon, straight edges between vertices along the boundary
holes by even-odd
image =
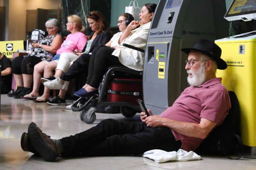
[[[31,43],[32,47],[34,48],[39,48],[41,45],[41,48],[43,48],[45,51],[48,51],[52,54],[56,54],[56,51],[61,48],[62,44],[62,37],[60,35],[57,35],[53,38],[52,40],[52,45],[44,45],[44,44],[39,44],[39,43]]]

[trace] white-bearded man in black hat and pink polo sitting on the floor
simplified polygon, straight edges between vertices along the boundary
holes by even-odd
[[[195,150],[211,130],[220,125],[230,109],[227,89],[216,78],[216,69],[227,68],[221,48],[214,42],[199,40],[184,48],[188,82],[172,107],[159,116],[140,114],[142,122],[106,119],[95,127],[59,140],[50,139],[32,122],[23,133],[21,147],[36,152],[46,161],[62,156],[107,156],[139,154],[147,150]]]

